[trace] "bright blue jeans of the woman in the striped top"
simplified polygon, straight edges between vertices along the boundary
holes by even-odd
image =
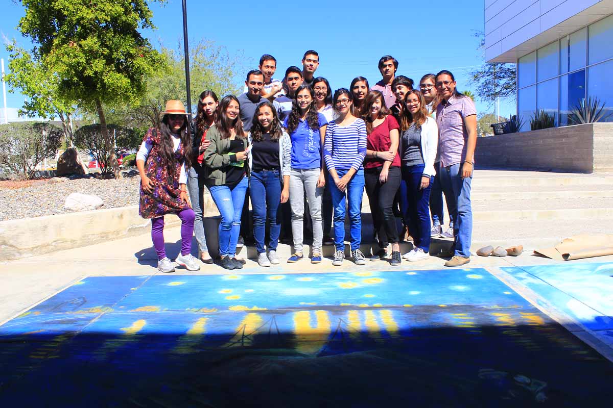
[[[343,177],[349,170],[337,170],[338,177]],[[351,250],[359,250],[362,243],[362,195],[364,195],[364,169],[359,169],[351,177],[345,192],[338,190],[332,176],[328,176],[332,207],[334,208],[334,245],[337,251],[345,251],[345,195],[349,206],[351,227]]]

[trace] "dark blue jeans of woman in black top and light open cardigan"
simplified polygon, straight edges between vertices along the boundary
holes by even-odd
[[[251,207],[253,207],[253,236],[256,239],[257,253],[264,250],[266,220],[268,220],[268,251],[276,251],[281,232],[281,179],[278,170],[251,172],[249,186]]]

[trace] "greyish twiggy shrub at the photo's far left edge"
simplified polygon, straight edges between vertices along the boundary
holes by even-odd
[[[45,158],[53,158],[64,132],[49,123],[0,125],[0,169],[31,179]]]

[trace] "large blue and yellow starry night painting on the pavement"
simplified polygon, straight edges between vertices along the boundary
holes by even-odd
[[[91,277],[0,327],[0,406],[517,407],[613,364],[483,269]]]

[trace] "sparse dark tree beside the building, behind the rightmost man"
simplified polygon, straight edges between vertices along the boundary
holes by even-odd
[[[475,37],[481,37],[479,50],[485,51],[485,36],[477,32]],[[489,105],[496,98],[515,98],[517,94],[516,64],[506,62],[486,62],[476,70],[470,72],[470,84],[476,86],[475,91],[480,100]]]

